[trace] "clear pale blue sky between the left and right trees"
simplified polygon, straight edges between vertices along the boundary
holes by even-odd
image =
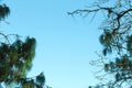
[[[72,18],[68,11],[85,8],[92,0],[7,0],[10,24],[2,23],[4,33],[33,36],[37,41],[36,56],[29,76],[44,72],[46,85],[53,88],[88,88],[95,85],[98,58],[100,16]],[[91,68],[92,67],[92,68]]]

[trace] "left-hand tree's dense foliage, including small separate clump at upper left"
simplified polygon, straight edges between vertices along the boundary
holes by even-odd
[[[0,21],[10,14],[10,8],[0,4]],[[10,38],[13,36],[13,41]],[[24,41],[18,34],[6,35],[0,33],[0,88],[43,88],[44,74],[26,77],[32,68],[35,56],[36,40],[25,37]]]

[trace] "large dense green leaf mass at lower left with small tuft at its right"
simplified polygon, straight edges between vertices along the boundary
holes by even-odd
[[[26,78],[35,55],[35,38],[26,37],[25,42],[18,38],[12,44],[0,44],[0,82],[6,85],[16,82],[22,88],[44,86],[43,73],[35,78]]]

